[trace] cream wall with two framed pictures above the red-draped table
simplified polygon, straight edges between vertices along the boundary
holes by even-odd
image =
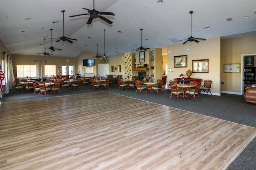
[[[190,48],[190,50],[185,50],[186,48]],[[187,42],[184,45],[168,45],[168,50],[171,50],[171,53],[168,53],[168,68],[174,69],[174,72],[167,72],[168,81],[179,77],[180,74],[184,74],[186,77],[186,71],[192,70],[192,60],[209,59],[209,73],[192,73],[191,77],[200,78],[203,81],[212,80],[212,93],[220,95],[220,38],[210,38],[199,43]],[[188,55],[188,67],[174,68],[174,56],[178,55]]]

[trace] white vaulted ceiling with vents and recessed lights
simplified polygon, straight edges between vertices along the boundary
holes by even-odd
[[[0,0],[0,39],[12,54],[43,53],[44,37],[48,36],[46,47],[51,46],[50,29],[53,29],[53,38],[63,36],[62,10],[66,10],[64,35],[78,41],[56,43],[58,39],[53,39],[53,47],[62,49],[46,49],[53,56],[77,57],[81,51],[96,53],[96,44],[98,53],[104,54],[104,29],[106,55],[132,52],[140,47],[140,28],[143,29],[143,47],[163,47],[166,51],[166,45],[174,44],[168,38],[184,40],[190,37],[190,11],[194,11],[192,36],[195,38],[207,41],[208,38],[247,32],[256,35],[256,0],[164,0],[160,4],[157,1],[95,0],[96,10],[115,14],[103,15],[113,24],[96,18],[91,25],[86,25],[88,15],[69,16],[88,13],[82,8],[92,10],[93,0]],[[249,18],[244,19],[244,16]],[[227,18],[233,20],[227,21]],[[53,24],[56,21],[59,22]],[[207,26],[211,29],[204,30]]]

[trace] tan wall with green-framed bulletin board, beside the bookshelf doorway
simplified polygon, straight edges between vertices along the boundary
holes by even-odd
[[[242,93],[241,76],[243,75],[242,55],[256,53],[256,36],[246,36],[221,40],[221,61],[220,61],[220,80],[224,81],[221,91],[226,93]],[[254,58],[254,67],[255,65]],[[240,63],[241,73],[224,73],[224,64]]]

